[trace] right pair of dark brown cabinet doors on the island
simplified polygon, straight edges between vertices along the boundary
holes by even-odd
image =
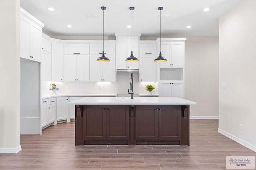
[[[182,107],[136,106],[136,140],[180,140]]]

